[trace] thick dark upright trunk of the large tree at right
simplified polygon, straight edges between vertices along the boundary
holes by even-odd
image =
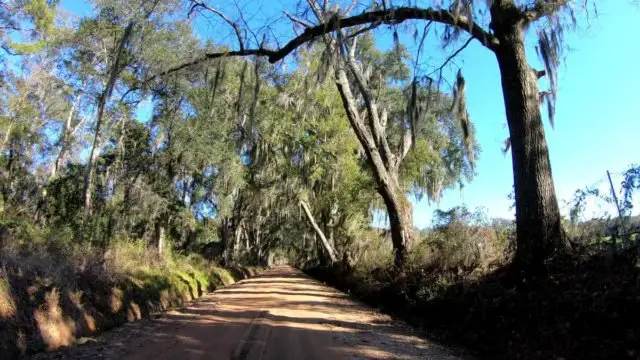
[[[507,16],[500,23],[494,15],[494,29],[500,40],[495,53],[502,75],[513,161],[515,264],[525,272],[535,272],[565,249],[565,240],[540,114],[538,76],[527,63],[523,24]]]

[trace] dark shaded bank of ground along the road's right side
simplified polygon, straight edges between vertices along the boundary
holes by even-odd
[[[440,286],[443,274],[308,273],[484,359],[640,359],[640,271],[631,256],[552,266],[516,289],[501,269]]]

